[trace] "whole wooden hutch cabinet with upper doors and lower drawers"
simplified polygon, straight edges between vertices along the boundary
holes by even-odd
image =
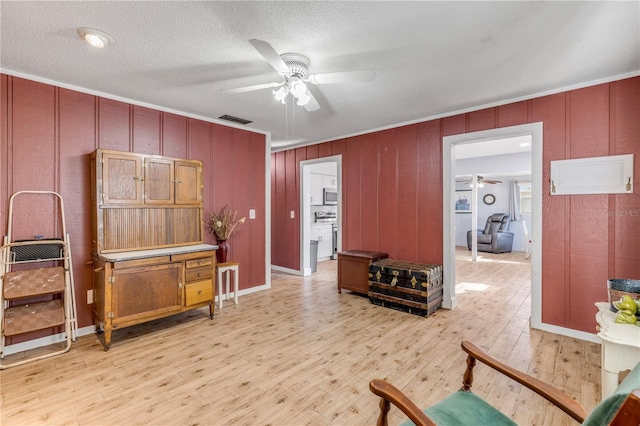
[[[104,332],[209,306],[215,250],[203,244],[202,162],[91,155],[94,324]]]

